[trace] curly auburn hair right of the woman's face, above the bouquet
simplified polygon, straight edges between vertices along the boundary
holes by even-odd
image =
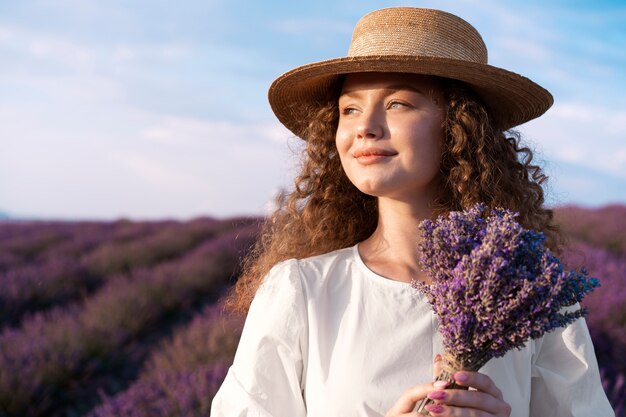
[[[488,109],[463,83],[442,82],[446,100],[442,187],[437,214],[463,210],[477,202],[519,213],[520,223],[546,235],[547,246],[559,250],[562,242],[552,210],[544,206],[548,177],[532,163],[533,152],[521,135],[490,122]]]

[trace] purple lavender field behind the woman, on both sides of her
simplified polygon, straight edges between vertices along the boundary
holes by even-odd
[[[587,322],[626,416],[626,206],[556,215],[564,259],[601,279]],[[0,222],[0,417],[208,416],[258,220]]]

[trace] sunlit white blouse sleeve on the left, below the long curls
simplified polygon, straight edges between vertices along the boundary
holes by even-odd
[[[306,416],[307,321],[298,261],[276,265],[259,287],[213,417]]]

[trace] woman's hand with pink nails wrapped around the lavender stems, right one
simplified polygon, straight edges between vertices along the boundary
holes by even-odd
[[[502,391],[485,374],[462,371],[454,374],[458,385],[473,390],[435,390],[428,398],[435,404],[426,406],[430,415],[437,417],[509,417],[511,406],[502,398]]]

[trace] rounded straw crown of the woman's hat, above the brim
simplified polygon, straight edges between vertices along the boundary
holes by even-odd
[[[487,63],[478,31],[453,14],[393,7],[369,13],[354,28],[348,56],[405,55]]]

